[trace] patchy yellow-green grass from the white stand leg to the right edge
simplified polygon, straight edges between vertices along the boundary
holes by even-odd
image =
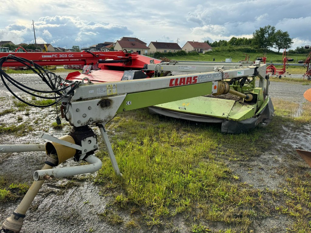
[[[215,232],[215,222],[227,226],[219,232],[253,232],[255,219],[285,214],[293,219],[284,223],[288,231],[309,232],[310,172],[289,175],[281,189],[259,190],[240,182],[228,166],[273,150],[273,141],[263,138],[278,135],[286,122],[311,122],[310,117],[287,117],[296,103],[274,103],[269,127],[238,135],[221,134],[217,125],[150,115],[146,108],[115,117],[107,129],[116,134],[113,150],[123,177],[115,175],[105,150],[99,151],[103,167],[94,181],[103,185],[103,193],[115,191],[109,211],[102,214],[115,219],[120,210],[128,209],[139,216],[131,221],[150,228],[183,216],[192,232]],[[307,105],[304,116],[311,113]]]

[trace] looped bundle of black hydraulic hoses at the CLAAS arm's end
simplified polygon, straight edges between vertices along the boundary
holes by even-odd
[[[49,86],[51,91],[43,91],[43,90],[38,90],[38,89],[33,89],[30,87],[27,87],[26,85],[23,85],[22,83],[18,82],[17,80],[13,79],[10,77],[3,69],[2,65],[4,62],[7,60],[14,60],[16,62],[19,62],[23,64],[24,66],[28,67],[30,70],[32,70],[35,74],[39,75],[39,77]],[[42,66],[36,64],[33,61],[30,61],[26,58],[21,58],[21,57],[16,57],[13,55],[8,55],[7,57],[1,57],[0,58],[0,77],[5,85],[5,87],[8,89],[8,91],[16,97],[18,100],[20,100],[23,103],[26,103],[27,105],[30,105],[32,107],[49,107],[54,104],[57,104],[59,102],[62,102],[64,98],[68,98],[68,95],[72,94],[73,91],[78,87],[78,85],[81,83],[80,81],[75,81],[75,82],[68,82],[68,85],[64,85],[64,81],[60,76],[57,76],[53,72],[50,72],[49,70],[45,70]],[[6,80],[14,85],[16,88],[22,90],[23,92],[30,94],[35,97],[43,98],[43,99],[55,99],[54,103],[50,103],[47,105],[35,105],[32,103],[29,103],[20,97],[18,97],[7,85]],[[63,86],[63,87],[62,87]],[[62,87],[62,88],[61,88]],[[42,96],[42,95],[37,95],[34,93],[31,93],[30,91],[38,92],[38,93],[44,93],[44,94],[54,94],[54,97],[47,97],[47,96]]]

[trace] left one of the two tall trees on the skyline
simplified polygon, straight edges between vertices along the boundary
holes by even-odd
[[[252,44],[258,48],[272,48],[275,43],[275,26],[267,25],[253,32]]]

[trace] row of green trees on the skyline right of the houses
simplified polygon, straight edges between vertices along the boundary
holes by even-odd
[[[219,40],[210,43],[208,40],[205,41],[211,47],[221,46],[241,46],[241,45],[252,45],[255,48],[270,49],[276,48],[278,52],[281,49],[288,49],[293,44],[293,39],[287,31],[277,30],[275,26],[267,25],[260,27],[258,30],[253,32],[252,38],[237,38],[232,37],[230,40]]]

